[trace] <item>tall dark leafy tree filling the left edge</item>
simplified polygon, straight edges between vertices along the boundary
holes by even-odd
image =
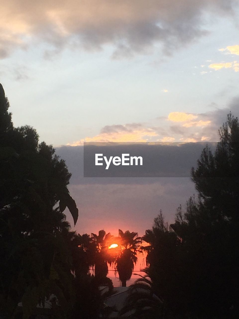
[[[8,108],[0,85],[0,311],[14,317],[22,301],[28,318],[54,293],[63,316],[73,279],[63,211],[69,208],[74,224],[78,218],[67,189],[71,174],[36,130],[13,127]]]

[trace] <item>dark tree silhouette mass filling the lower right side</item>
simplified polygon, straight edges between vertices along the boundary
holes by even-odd
[[[192,168],[198,198],[167,227],[160,214],[143,240],[148,274],[166,318],[228,319],[238,315],[239,123],[231,114],[213,154]]]

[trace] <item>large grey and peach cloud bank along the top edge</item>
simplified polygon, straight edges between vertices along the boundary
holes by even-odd
[[[113,45],[114,57],[147,53],[156,43],[171,54],[205,35],[205,12],[232,15],[233,0],[2,0],[0,57],[16,48],[48,44],[47,54],[65,47],[99,50]]]

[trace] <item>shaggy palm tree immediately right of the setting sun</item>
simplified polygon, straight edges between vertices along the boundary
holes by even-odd
[[[138,233],[131,233],[128,230],[124,233],[121,229],[119,229],[119,238],[121,251],[115,261],[115,270],[119,273],[122,287],[126,287],[126,281],[131,278],[134,265],[138,260],[137,251],[142,240],[138,237]]]

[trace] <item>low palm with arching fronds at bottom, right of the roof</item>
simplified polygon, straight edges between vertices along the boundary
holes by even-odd
[[[140,278],[129,287],[126,305],[120,315],[127,314],[130,318],[137,319],[163,318],[163,301],[155,294],[147,269],[144,272],[144,276],[137,274]]]

